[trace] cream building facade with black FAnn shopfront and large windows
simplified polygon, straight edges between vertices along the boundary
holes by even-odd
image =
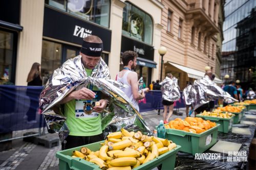
[[[89,35],[103,41],[102,58],[115,79],[121,53],[138,53],[138,77],[145,84],[158,78],[161,10],[157,0],[72,1],[11,0],[0,2],[0,84],[27,85],[34,62],[46,83],[54,69],[79,54]]]

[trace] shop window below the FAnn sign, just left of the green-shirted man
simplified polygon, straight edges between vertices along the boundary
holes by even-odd
[[[61,56],[62,45],[60,43],[42,40],[41,76],[43,84],[61,65]]]

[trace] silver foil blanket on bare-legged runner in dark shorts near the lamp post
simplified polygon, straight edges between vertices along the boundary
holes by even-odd
[[[169,102],[178,101],[180,99],[180,87],[178,85],[178,79],[173,77],[172,79],[165,77],[160,83],[162,98]]]

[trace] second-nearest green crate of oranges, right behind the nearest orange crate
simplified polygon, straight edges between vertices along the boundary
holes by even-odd
[[[213,116],[204,116],[202,114],[197,114],[197,117],[202,117],[205,120],[210,120],[211,122],[215,122],[216,124],[220,124],[218,127],[218,132],[228,133],[232,129],[233,118],[221,118],[221,117],[213,117]]]

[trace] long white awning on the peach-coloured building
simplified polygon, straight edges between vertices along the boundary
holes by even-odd
[[[188,76],[189,78],[201,79],[201,78],[203,78],[204,75],[205,75],[205,72],[203,72],[203,71],[199,71],[199,70],[196,70],[196,69],[193,69],[193,68],[185,67],[185,66],[183,66],[183,65],[175,64],[175,63],[172,63],[172,62],[169,62],[169,61],[168,61],[168,63],[169,63],[170,65],[173,65],[173,66],[175,66],[176,68],[178,68],[178,69],[180,69],[180,70],[186,72],[186,73],[187,73],[187,76]],[[220,80],[220,79],[218,79],[217,77],[215,77],[214,82],[215,82],[215,83],[222,83],[223,81]]]

